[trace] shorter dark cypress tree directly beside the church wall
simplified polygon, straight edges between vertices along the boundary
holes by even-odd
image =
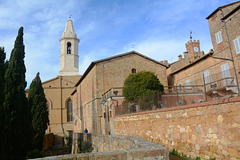
[[[46,107],[47,100],[42,87],[42,82],[37,73],[33,79],[28,94],[28,102],[32,112],[32,126],[33,126],[33,146],[32,150],[42,150],[43,138],[47,129],[48,109]]]

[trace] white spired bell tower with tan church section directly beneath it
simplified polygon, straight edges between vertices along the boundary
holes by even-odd
[[[78,71],[79,39],[70,18],[59,41],[61,44],[59,75],[42,83],[49,110],[47,133],[55,135],[55,144],[61,144],[62,137],[73,131],[73,100],[70,96],[81,78]]]

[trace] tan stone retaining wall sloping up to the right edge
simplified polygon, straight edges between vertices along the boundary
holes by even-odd
[[[201,159],[240,159],[240,97],[115,118],[116,134],[132,135]]]

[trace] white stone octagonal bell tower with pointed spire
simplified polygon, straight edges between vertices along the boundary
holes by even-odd
[[[78,71],[78,43],[79,39],[69,17],[66,28],[59,40],[61,43],[59,76],[79,75]]]

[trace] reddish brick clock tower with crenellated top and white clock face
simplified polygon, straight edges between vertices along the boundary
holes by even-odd
[[[193,61],[201,57],[199,40],[190,40],[185,44],[185,46],[187,50],[186,53],[188,53],[188,63],[192,63]]]

